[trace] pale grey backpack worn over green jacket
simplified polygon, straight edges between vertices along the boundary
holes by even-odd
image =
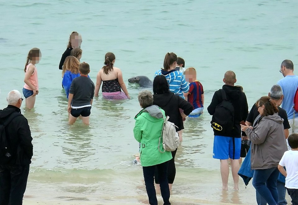
[[[164,125],[162,128],[161,136],[159,138],[159,143],[158,143],[158,150],[163,153],[165,151],[175,151],[178,149],[179,145],[179,135],[178,132],[176,132],[176,125],[174,123],[171,123],[168,121],[169,116],[164,118]],[[160,140],[162,137],[162,146],[165,151],[160,150]]]

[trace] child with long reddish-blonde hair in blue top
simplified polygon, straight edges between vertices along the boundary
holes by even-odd
[[[79,65],[80,62],[75,56],[67,56],[64,61],[62,70],[62,86],[65,90],[67,98],[72,80],[80,76]]]

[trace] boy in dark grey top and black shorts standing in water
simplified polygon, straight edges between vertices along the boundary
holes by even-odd
[[[71,82],[68,96],[69,124],[75,123],[81,115],[83,123],[89,125],[89,115],[94,96],[94,83],[88,78],[90,67],[88,63],[79,65],[80,77],[74,78]]]

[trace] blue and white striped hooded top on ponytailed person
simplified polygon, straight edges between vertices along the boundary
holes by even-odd
[[[185,81],[183,73],[178,70],[158,70],[155,72],[154,78],[157,75],[164,75],[169,83],[170,91],[184,99],[182,92],[187,92],[189,90],[189,86],[188,83]]]

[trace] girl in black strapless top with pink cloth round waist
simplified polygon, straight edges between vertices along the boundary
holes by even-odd
[[[115,55],[106,53],[105,66],[97,74],[95,96],[98,96],[99,88],[102,84],[103,98],[110,100],[130,99],[123,81],[122,72],[119,68],[114,67],[114,64]]]

